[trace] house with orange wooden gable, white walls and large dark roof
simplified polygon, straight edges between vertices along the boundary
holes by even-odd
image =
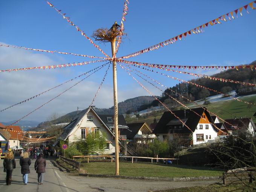
[[[191,110],[172,111],[183,123],[170,111],[165,111],[153,133],[162,141],[180,136],[185,140],[190,140],[193,145],[213,142],[217,137],[218,129],[213,126],[214,122],[210,114],[204,108]]]

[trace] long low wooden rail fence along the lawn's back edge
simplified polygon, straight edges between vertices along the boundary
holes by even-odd
[[[100,158],[100,157],[105,157],[105,158],[111,158],[111,163],[113,162],[113,158],[115,156],[113,155],[74,155],[72,156],[73,160],[75,160],[75,158],[87,158],[87,163],[89,163],[89,158]],[[153,160],[166,160],[166,164],[168,163],[168,160],[177,160],[177,165],[178,165],[178,158],[157,158],[157,157],[135,157],[135,156],[119,156],[119,158],[131,158],[131,163],[133,162],[137,162],[137,159],[151,159],[151,163],[153,163]]]

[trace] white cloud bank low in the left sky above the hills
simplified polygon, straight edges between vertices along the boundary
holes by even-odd
[[[11,47],[0,47],[0,69],[45,66],[49,64],[52,65],[65,62],[67,61],[58,56],[51,58],[47,54],[15,49]],[[111,69],[109,71],[111,71]],[[80,73],[81,72],[79,72],[79,74]],[[10,105],[23,101],[24,99],[30,98],[35,94],[52,88],[61,82],[76,76],[77,74],[78,71],[76,71],[75,68],[44,71],[27,70],[18,72],[1,72],[0,109],[9,107]],[[108,76],[108,78],[110,78],[111,75],[109,74]],[[30,114],[23,120],[35,120],[40,122],[47,120],[47,117],[49,117],[49,115],[54,112],[58,112],[59,114],[66,114],[71,111],[75,111],[76,107],[88,107],[99,87],[101,79],[102,76],[99,78],[98,76],[97,78],[94,76],[90,79],[85,79],[69,91],[65,92],[49,104]],[[33,111],[35,108],[41,106],[62,91],[66,90],[79,80],[71,81],[65,85],[62,85],[61,87],[44,93],[42,96],[32,99],[29,102],[0,112],[0,122],[8,122],[11,120],[20,119],[30,111]],[[104,82],[94,102],[96,107],[108,108],[113,105],[113,87],[111,82],[112,81]],[[130,82],[132,83],[130,86],[119,88],[119,102],[136,96],[148,95],[147,92],[139,87],[139,85],[136,85],[132,79]],[[158,94],[157,91],[153,91],[153,93]]]

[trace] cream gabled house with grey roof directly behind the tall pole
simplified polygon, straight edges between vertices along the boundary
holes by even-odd
[[[104,154],[111,154],[115,152],[114,133],[111,131],[113,128],[113,115],[98,115],[93,107],[88,107],[82,110],[68,125],[63,128],[63,133],[57,139],[56,145],[59,140],[68,140],[69,143],[76,142],[78,139],[86,140],[89,132],[103,134],[105,133],[108,144],[105,146]],[[118,116],[118,128],[127,128],[125,119],[122,115]]]

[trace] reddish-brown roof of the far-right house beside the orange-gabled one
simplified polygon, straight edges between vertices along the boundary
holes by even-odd
[[[229,125],[228,123],[224,122],[227,130],[232,130],[234,127],[241,130],[248,128],[249,123],[251,122],[251,118],[226,119],[225,121],[231,124]]]

